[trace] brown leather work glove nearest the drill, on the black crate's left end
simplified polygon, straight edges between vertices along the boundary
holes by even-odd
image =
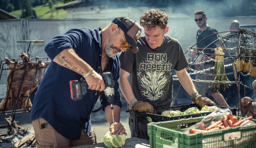
[[[140,112],[140,113],[150,113],[150,114],[156,114],[156,110],[154,107],[149,104],[148,102],[142,102],[138,101],[137,99],[133,99],[128,108],[130,110],[127,110],[126,112]]]

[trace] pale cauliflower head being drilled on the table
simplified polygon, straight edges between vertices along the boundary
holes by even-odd
[[[125,134],[123,135],[111,135],[110,131],[106,133],[106,135],[103,137],[103,142],[108,148],[118,148],[124,145],[124,141],[126,140]]]

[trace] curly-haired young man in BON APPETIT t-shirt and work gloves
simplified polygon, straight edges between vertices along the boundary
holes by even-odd
[[[160,10],[149,10],[140,17],[145,36],[137,41],[138,53],[122,53],[120,89],[128,102],[131,136],[135,135],[134,111],[155,113],[154,108],[171,107],[172,71],[175,70],[183,88],[200,106],[215,104],[202,97],[185,68],[188,61],[175,38],[164,36],[169,30],[168,16]],[[130,76],[130,84],[127,78]]]

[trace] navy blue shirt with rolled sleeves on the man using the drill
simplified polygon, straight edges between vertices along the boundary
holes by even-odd
[[[79,57],[99,73],[102,52],[100,30],[100,27],[93,30],[72,28],[51,39],[45,46],[45,52],[53,60],[62,50],[72,48]],[[76,65],[72,66],[75,67]],[[115,101],[113,104],[122,107],[117,82],[119,69],[118,57],[115,55],[109,58],[107,71],[113,74],[115,83]],[[82,100],[73,101],[70,96],[69,81],[80,78],[83,76],[51,61],[36,91],[30,120],[44,118],[58,133],[68,139],[79,139],[82,128],[89,135],[91,130],[90,114],[99,95],[95,95],[93,90],[88,90]],[[102,99],[103,107],[108,106],[105,95]]]

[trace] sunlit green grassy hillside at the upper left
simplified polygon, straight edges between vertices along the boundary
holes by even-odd
[[[53,8],[55,8],[57,5],[63,4],[63,2],[57,2],[56,4],[53,5]],[[52,12],[50,11],[50,8],[48,4],[43,4],[40,6],[33,7],[33,9],[36,11],[36,17],[37,19],[65,19],[67,17],[67,10],[64,9],[59,9],[59,10],[53,10]],[[22,11],[21,10],[16,10],[10,12],[11,14],[20,17]],[[52,15],[52,16],[51,16]]]

